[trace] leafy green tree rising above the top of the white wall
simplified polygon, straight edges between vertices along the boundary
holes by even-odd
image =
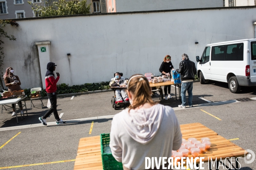
[[[90,14],[91,3],[87,5],[87,0],[43,0],[39,6],[32,1],[28,1],[32,6],[35,17],[49,17],[58,15]]]

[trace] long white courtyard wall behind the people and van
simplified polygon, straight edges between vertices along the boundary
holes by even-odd
[[[61,75],[59,83],[109,81],[116,71],[124,77],[147,72],[159,75],[167,54],[175,68],[183,53],[196,62],[195,56],[201,56],[211,39],[214,43],[254,38],[255,21],[256,8],[22,20],[17,21],[17,29],[5,28],[17,41],[3,44],[3,68],[15,69],[22,88],[40,86],[35,42],[50,41],[51,61]],[[46,65],[41,67],[46,72]]]

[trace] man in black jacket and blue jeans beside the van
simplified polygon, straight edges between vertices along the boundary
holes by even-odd
[[[195,80],[196,68],[195,62],[189,60],[187,54],[182,54],[182,61],[180,62],[180,68],[176,70],[180,73],[181,77],[181,101],[182,105],[178,105],[179,108],[186,108],[186,91],[189,94],[189,108],[192,108],[192,89],[193,82]]]

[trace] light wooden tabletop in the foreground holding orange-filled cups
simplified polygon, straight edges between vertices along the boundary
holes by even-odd
[[[220,158],[244,156],[243,148],[219,136],[216,132],[201,123],[180,125],[180,130],[183,139],[190,137],[195,137],[198,140],[201,140],[202,137],[210,138],[212,142],[210,150],[207,153],[200,154],[200,157],[204,157],[203,161],[208,161],[208,157],[214,160],[217,157],[217,160],[219,160]],[[188,157],[192,157],[192,155]],[[199,163],[199,160],[197,163]],[[80,139],[74,170],[103,170],[100,136]]]

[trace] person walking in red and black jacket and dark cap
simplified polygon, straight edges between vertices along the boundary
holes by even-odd
[[[59,118],[58,111],[57,111],[57,94],[56,94],[57,85],[56,84],[60,78],[60,74],[56,73],[57,78],[55,78],[55,75],[53,73],[53,71],[55,71],[55,68],[56,68],[55,66],[57,65],[55,65],[54,62],[48,62],[47,64],[47,72],[45,74],[45,85],[46,85],[47,96],[51,102],[51,108],[47,111],[47,113],[45,113],[44,116],[38,118],[43,125],[47,125],[46,118],[50,114],[52,114],[52,112],[56,119],[56,125],[66,123],[66,121],[63,121],[62,119]]]

